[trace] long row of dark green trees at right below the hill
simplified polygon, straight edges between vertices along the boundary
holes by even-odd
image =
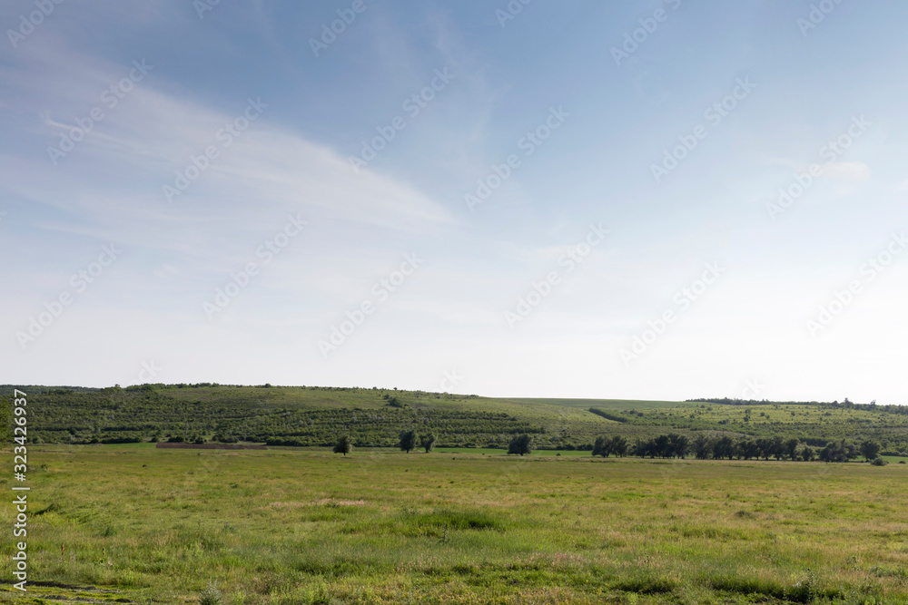
[[[593,444],[593,455],[608,457],[610,455],[625,456],[635,455],[641,458],[686,458],[689,455],[706,460],[733,460],[760,459],[769,460],[804,460],[812,462],[847,462],[863,455],[866,460],[879,457],[880,444],[866,440],[860,444],[846,442],[831,442],[823,449],[816,451],[807,444],[802,444],[798,439],[783,439],[782,437],[751,439],[744,437],[735,438],[723,436],[710,436],[699,434],[693,439],[684,434],[660,434],[646,441],[637,440],[630,444],[623,435],[612,437],[597,437]]]

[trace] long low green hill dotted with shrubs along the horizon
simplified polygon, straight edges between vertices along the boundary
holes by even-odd
[[[12,395],[0,386],[0,395]],[[29,395],[30,436],[44,443],[239,440],[328,445],[350,434],[362,447],[392,447],[403,430],[429,431],[439,446],[507,447],[528,433],[538,449],[590,449],[599,435],[631,441],[657,434],[797,438],[824,445],[873,439],[908,450],[908,407],[818,402],[633,401],[489,398],[379,388],[138,385],[20,386]],[[592,410],[592,411],[591,411]]]

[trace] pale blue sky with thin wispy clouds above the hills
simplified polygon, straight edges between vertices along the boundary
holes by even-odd
[[[906,18],[8,0],[0,383],[906,404]]]

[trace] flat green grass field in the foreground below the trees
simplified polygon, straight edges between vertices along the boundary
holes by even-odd
[[[0,599],[908,602],[908,465],[458,451],[33,446]]]

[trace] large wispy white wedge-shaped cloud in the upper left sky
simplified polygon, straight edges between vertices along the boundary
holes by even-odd
[[[221,100],[220,107],[184,99],[149,61],[147,76],[112,107],[104,91],[128,77],[131,63],[47,47],[24,55],[6,70],[2,88],[18,108],[15,130],[33,148],[59,147],[61,133],[87,123],[94,109],[104,114],[72,151],[55,158],[57,165],[48,152],[11,152],[15,161],[0,168],[0,190],[44,207],[44,229],[204,256],[212,242],[230,242],[237,233],[267,235],[288,212],[318,217],[326,234],[372,239],[381,231],[432,232],[454,221],[407,182],[368,169],[354,173],[330,147],[274,122],[269,107],[241,130],[256,98]],[[224,135],[228,124],[236,136]],[[205,161],[206,148],[217,157]],[[206,168],[169,202],[163,187],[174,187],[192,158]]]

